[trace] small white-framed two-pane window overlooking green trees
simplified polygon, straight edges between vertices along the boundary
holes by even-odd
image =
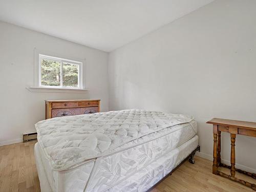
[[[81,89],[82,63],[39,54],[39,86]]]

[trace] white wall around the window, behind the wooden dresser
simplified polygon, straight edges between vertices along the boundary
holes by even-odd
[[[34,93],[34,48],[66,58],[86,58],[86,93]],[[109,109],[108,53],[0,22],[0,145],[20,142],[45,119],[46,99],[101,99]]]

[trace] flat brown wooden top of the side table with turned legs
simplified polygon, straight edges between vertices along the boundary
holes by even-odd
[[[219,125],[225,125],[225,126],[243,127],[243,128],[247,128],[247,129],[255,129],[255,131],[256,131],[256,122],[213,118],[210,121],[207,121],[206,123],[219,124]]]

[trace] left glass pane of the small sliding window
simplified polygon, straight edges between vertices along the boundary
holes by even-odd
[[[60,62],[41,58],[41,85],[60,86]]]

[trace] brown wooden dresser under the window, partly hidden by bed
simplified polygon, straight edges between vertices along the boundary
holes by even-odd
[[[100,100],[46,100],[46,119],[97,113]]]

